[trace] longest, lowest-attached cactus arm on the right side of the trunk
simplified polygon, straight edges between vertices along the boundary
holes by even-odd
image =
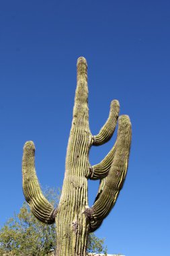
[[[116,152],[112,166],[108,176],[105,178],[105,184],[100,187],[101,193],[98,194],[97,200],[91,209],[87,210],[91,222],[91,232],[96,230],[103,219],[108,216],[122,189],[128,168],[131,137],[130,119],[128,116],[123,115],[119,118]]]

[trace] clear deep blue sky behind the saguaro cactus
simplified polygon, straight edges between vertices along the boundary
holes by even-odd
[[[167,0],[1,1],[0,225],[24,201],[25,141],[36,144],[42,186],[62,186],[76,62],[84,56],[91,132],[99,131],[115,98],[132,121],[126,182],[96,234],[106,238],[108,253],[169,256],[169,9]],[[91,164],[115,137],[91,149]],[[90,205],[97,186],[89,183]]]

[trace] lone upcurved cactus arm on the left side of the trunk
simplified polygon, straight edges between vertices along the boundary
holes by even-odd
[[[34,216],[41,222],[52,224],[55,220],[56,210],[42,194],[35,170],[35,147],[33,141],[24,145],[22,161],[23,191],[26,201]]]

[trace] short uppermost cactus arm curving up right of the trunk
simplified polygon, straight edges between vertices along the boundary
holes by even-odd
[[[93,136],[94,146],[102,145],[103,143],[110,140],[116,127],[119,110],[120,105],[118,100],[112,100],[110,104],[110,115],[108,117],[108,120],[105,122],[105,125],[103,125],[99,133]]]

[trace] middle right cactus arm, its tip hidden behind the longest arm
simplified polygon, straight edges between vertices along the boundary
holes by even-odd
[[[108,175],[116,152],[116,143],[107,156],[99,163],[90,167],[91,180],[103,179]]]

